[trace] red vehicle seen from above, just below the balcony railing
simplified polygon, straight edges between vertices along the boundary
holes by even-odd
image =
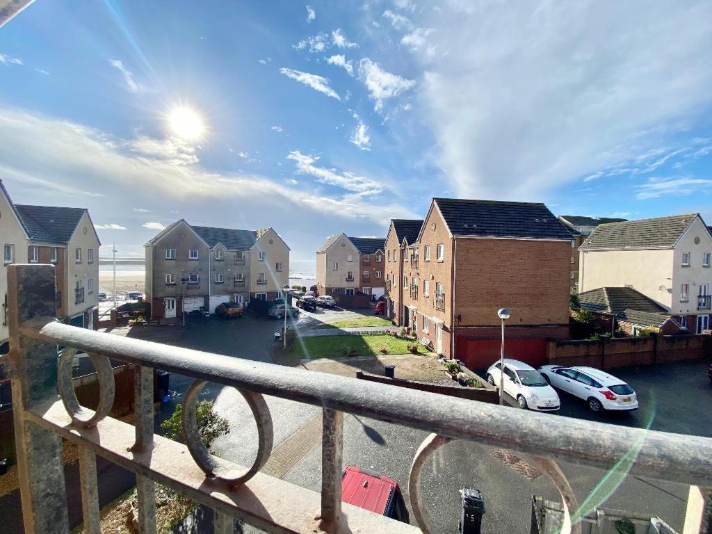
[[[403,523],[409,522],[400,486],[387,476],[348,466],[341,473],[341,500]]]

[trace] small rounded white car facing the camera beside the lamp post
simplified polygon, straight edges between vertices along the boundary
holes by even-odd
[[[496,362],[487,370],[487,382],[499,389],[501,367]],[[504,392],[517,399],[523,409],[555,412],[561,406],[559,396],[531,365],[519,360],[504,360]]]

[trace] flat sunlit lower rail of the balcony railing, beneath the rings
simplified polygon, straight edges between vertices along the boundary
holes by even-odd
[[[317,531],[320,495],[314,491],[264,473],[257,473],[243,485],[231,488],[229,483],[206,478],[187,447],[177,441],[155,436],[152,450],[133,453],[130,448],[134,442],[134,429],[130,424],[107,417],[94,429],[71,426],[61,401],[28,411],[26,417],[115,464],[261,530],[304,534]],[[350,504],[344,504],[342,511],[345,521],[335,533],[420,532],[417,527]]]

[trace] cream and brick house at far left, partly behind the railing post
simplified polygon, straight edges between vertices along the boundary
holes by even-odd
[[[56,317],[63,323],[96,328],[100,242],[86,209],[14,204],[0,181],[0,236],[0,354],[9,348],[6,272],[11,263],[54,265]]]

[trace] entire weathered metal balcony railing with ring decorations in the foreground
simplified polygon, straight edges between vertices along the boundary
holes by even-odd
[[[80,488],[87,533],[100,532],[96,455],[137,475],[140,532],[155,533],[155,483],[215,511],[214,531],[232,532],[237,519],[271,533],[417,533],[417,527],[341,500],[343,414],[377,419],[430,434],[409,474],[414,520],[431,526],[423,509],[420,476],[426,461],[456,439],[528,456],[560,492],[565,533],[580,534],[580,512],[555,460],[691,485],[685,534],[712,525],[712,439],[570,419],[415,389],[324,375],[298,367],[243,360],[120,337],[58,323],[51,266],[9,268],[9,372],[14,381],[15,434],[23,520],[27,534],[69,529],[62,439],[78,445]],[[56,346],[65,347],[57,357]],[[100,384],[98,408],[81,407],[72,387],[72,360],[86,352]],[[5,358],[5,357],[3,357]],[[108,417],[114,396],[109,358],[136,365],[134,425]],[[206,365],[209,362],[209,365]],[[4,366],[5,362],[0,360]],[[195,379],[183,399],[186,444],[154,434],[153,370]],[[258,451],[244,467],[211,456],[200,441],[197,400],[206,382],[235,387],[258,429]],[[59,394],[58,394],[59,393]],[[261,473],[273,448],[273,422],[263,395],[322,410],[321,491]]]

